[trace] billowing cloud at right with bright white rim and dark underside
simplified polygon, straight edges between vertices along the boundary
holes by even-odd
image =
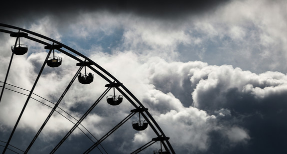
[[[226,128],[231,125],[244,128],[250,137],[248,144],[232,145],[220,137],[220,131],[211,131],[210,151],[220,154],[286,152],[282,148],[286,143],[284,134],[287,128],[284,123],[287,116],[284,74],[266,72],[255,75],[226,66],[209,68],[208,73],[203,70],[201,73],[207,78],[195,83],[195,106],[216,115],[218,123]],[[226,111],[229,112],[226,114]],[[234,137],[227,134],[230,141]]]

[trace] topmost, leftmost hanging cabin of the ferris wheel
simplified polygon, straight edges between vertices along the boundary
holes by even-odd
[[[16,42],[15,45],[11,46],[11,50],[15,55],[23,55],[27,53],[28,51],[28,46],[25,44],[20,44],[20,37],[26,37],[28,36],[27,33],[24,32],[15,32],[10,34],[11,37],[16,37]],[[18,44],[17,44],[18,40]]]

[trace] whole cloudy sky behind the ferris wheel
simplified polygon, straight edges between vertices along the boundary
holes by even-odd
[[[1,8],[0,23],[50,37],[99,64],[148,108],[176,154],[286,153],[287,1],[201,1],[7,1],[14,9]],[[0,41],[4,81],[15,38],[0,33]],[[47,50],[24,38],[21,43],[29,46],[28,53],[13,58],[7,83],[31,89]],[[78,69],[75,60],[56,54],[62,65],[45,67],[34,90],[52,102]],[[89,85],[76,81],[59,107],[79,119],[104,91],[104,84],[96,75]],[[7,141],[25,99],[4,91],[0,141]],[[82,125],[100,138],[131,109],[127,100],[117,107],[103,100]],[[50,110],[31,99],[10,144],[25,150]],[[150,128],[132,130],[136,119],[101,144],[109,154],[131,153],[155,136]],[[71,127],[54,113],[31,153],[49,153]],[[91,144],[76,130],[58,153],[82,153]],[[154,144],[142,154],[159,147]],[[100,154],[97,149],[94,153]]]

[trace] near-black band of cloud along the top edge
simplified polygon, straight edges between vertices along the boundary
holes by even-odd
[[[202,13],[229,0],[74,0],[59,1],[5,1],[1,8],[1,22],[13,20],[33,21],[38,16],[52,14],[55,18],[67,19],[79,11],[107,10],[113,13],[135,13],[156,18],[182,18],[187,14]],[[3,5],[2,5],[3,6]],[[66,18],[67,17],[67,18]]]

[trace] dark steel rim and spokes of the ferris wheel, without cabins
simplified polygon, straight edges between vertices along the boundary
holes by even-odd
[[[148,126],[152,129],[152,131],[155,134],[155,138],[152,139],[149,143],[145,144],[144,146],[140,147],[139,149],[135,150],[134,152],[132,152],[131,154],[137,154],[140,151],[144,150],[145,148],[149,147],[150,145],[154,144],[157,141],[160,141],[160,143],[162,144],[162,146],[164,147],[164,149],[169,149],[169,152],[171,154],[175,154],[171,144],[168,141],[168,137],[165,136],[165,134],[163,133],[163,131],[161,130],[161,128],[159,127],[159,125],[156,123],[156,121],[153,119],[153,117],[151,116],[151,114],[147,111],[147,109],[143,106],[143,104],[121,83],[119,82],[115,77],[113,77],[109,72],[107,72],[105,69],[103,69],[101,66],[99,66],[97,63],[95,63],[94,61],[92,61],[91,59],[89,59],[88,57],[84,56],[83,54],[79,53],[78,51],[56,41],[53,40],[49,37],[43,36],[41,34],[23,29],[23,28],[19,28],[19,27],[15,27],[15,26],[11,26],[11,25],[7,25],[7,24],[3,24],[0,23],[0,32],[3,33],[7,33],[7,34],[14,34],[16,32],[24,32],[27,33],[27,35],[24,35],[23,37],[25,39],[29,39],[32,41],[35,41],[37,43],[46,45],[46,46],[50,46],[50,50],[46,56],[46,59],[44,60],[42,67],[37,75],[37,78],[34,81],[33,87],[31,88],[31,90],[29,90],[29,94],[28,97],[25,101],[25,104],[21,110],[20,115],[18,116],[18,119],[16,121],[16,124],[9,136],[9,139],[7,140],[7,142],[3,142],[5,143],[5,147],[4,150],[2,152],[2,154],[4,154],[6,152],[6,150],[10,150],[9,147],[13,147],[11,146],[9,143],[12,140],[13,134],[17,128],[17,125],[21,119],[21,116],[25,110],[25,107],[27,105],[27,103],[29,102],[29,99],[31,98],[31,95],[33,94],[33,90],[37,84],[38,79],[40,78],[40,75],[42,73],[43,68],[45,67],[46,61],[52,51],[52,46],[54,44],[60,45],[62,48],[58,48],[57,50],[65,55],[67,55],[68,57],[78,61],[79,63],[84,63],[84,62],[88,62],[90,65],[87,65],[87,67],[92,70],[94,73],[96,73],[99,77],[101,77],[102,79],[104,79],[107,83],[109,83],[110,85],[112,83],[116,83],[117,87],[114,87],[121,95],[124,96],[124,98],[134,107],[134,109],[140,109],[140,114],[141,116],[144,118],[144,120],[148,123]],[[18,37],[16,37],[16,41],[15,41],[15,46],[17,44],[18,41]],[[52,42],[52,44],[50,44]],[[64,48],[64,49],[63,49]],[[75,56],[76,55],[76,56]],[[80,57],[80,58],[79,58]],[[10,66],[12,64],[12,58],[13,58],[13,53],[11,55],[10,58],[10,62],[8,65],[8,69],[6,72],[6,76],[5,76],[5,80],[3,82],[2,85],[2,90],[1,90],[1,94],[0,94],[0,101],[3,95],[6,85],[6,80],[8,78],[8,73],[9,73],[9,69]],[[83,60],[82,60],[83,59]],[[36,133],[36,135],[34,136],[33,140],[30,142],[29,146],[27,147],[27,149],[24,151],[24,154],[26,154],[29,149],[32,147],[33,143],[35,142],[35,140],[37,139],[38,135],[40,134],[40,132],[42,131],[42,129],[44,128],[45,124],[48,122],[49,118],[52,116],[52,114],[54,113],[54,111],[56,111],[56,109],[58,109],[58,104],[61,102],[62,98],[64,97],[65,93],[68,91],[69,87],[72,85],[73,81],[76,79],[76,75],[79,73],[79,71],[82,69],[83,66],[81,66],[78,71],[75,73],[74,77],[71,79],[70,83],[67,85],[66,89],[64,90],[64,92],[62,93],[61,97],[58,99],[58,101],[54,104],[54,106],[52,107],[52,110],[50,111],[50,114],[47,116],[46,120],[43,122],[42,126],[39,128],[38,132]],[[62,140],[56,145],[56,147],[54,147],[54,149],[50,152],[50,154],[53,154],[54,152],[56,152],[56,150],[61,146],[61,144],[68,138],[68,136],[76,129],[78,128],[79,125],[81,125],[80,123],[84,120],[84,118],[92,111],[92,109],[99,103],[99,101],[107,94],[107,92],[111,89],[111,87],[107,87],[106,90],[97,98],[97,100],[91,105],[91,107],[85,112],[85,114],[82,115],[82,117],[77,120],[76,123],[74,123],[74,126],[70,129],[70,131],[62,138]],[[0,102],[1,103],[1,102]],[[95,147],[97,147],[102,141],[104,141],[109,135],[111,135],[112,133],[114,133],[114,131],[116,131],[122,124],[124,124],[130,117],[132,117],[135,113],[130,113],[126,118],[124,118],[121,122],[119,122],[114,128],[112,128],[107,134],[105,134],[102,138],[100,138],[99,140],[97,140],[97,142],[94,142],[93,145],[87,149],[84,154],[87,154],[89,152],[91,152]],[[160,139],[160,140],[158,140]],[[2,141],[0,141],[2,142]],[[15,148],[15,147],[14,147]],[[10,150],[11,151],[11,150]],[[23,152],[22,150],[20,150],[21,152]],[[16,152],[15,152],[16,153]]]

